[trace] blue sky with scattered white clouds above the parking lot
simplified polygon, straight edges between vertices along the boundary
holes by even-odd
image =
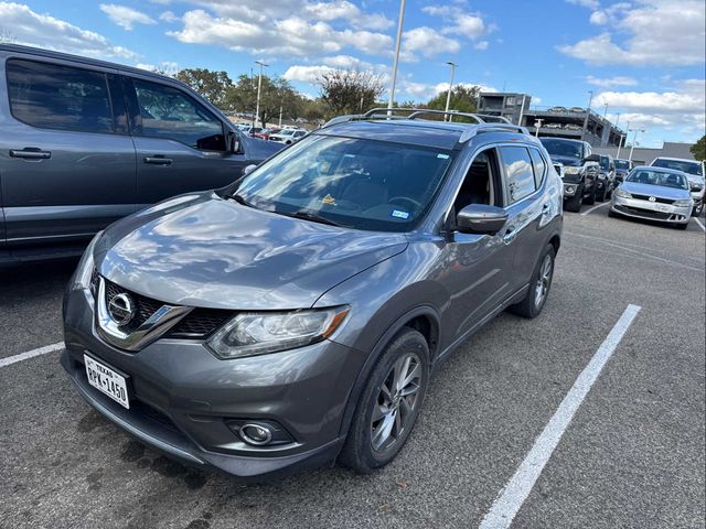
[[[457,83],[592,107],[644,128],[640,144],[704,134],[704,0],[408,0],[397,99]],[[0,1],[0,37],[146,68],[232,77],[265,60],[302,93],[321,72],[388,76],[398,1]]]

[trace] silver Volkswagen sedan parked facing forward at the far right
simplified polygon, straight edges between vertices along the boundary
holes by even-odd
[[[613,193],[609,215],[657,220],[686,229],[693,207],[686,174],[640,165]]]

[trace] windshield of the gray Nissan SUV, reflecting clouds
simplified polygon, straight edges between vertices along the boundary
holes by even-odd
[[[452,151],[310,136],[245,176],[235,193],[274,213],[406,231],[431,205],[452,161]]]

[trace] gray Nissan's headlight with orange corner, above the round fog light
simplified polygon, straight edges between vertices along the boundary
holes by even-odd
[[[347,306],[293,312],[244,312],[207,345],[222,359],[266,355],[321,342],[341,325]]]

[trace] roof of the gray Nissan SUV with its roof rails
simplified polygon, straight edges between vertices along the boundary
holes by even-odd
[[[463,141],[469,131],[481,130],[489,125],[431,121],[427,119],[367,119],[331,125],[314,131],[314,133],[359,139],[374,138],[378,141],[451,150],[457,148],[459,141]],[[500,127],[501,125],[494,131],[505,132],[515,137],[524,136],[518,132],[503,131]],[[534,138],[532,139],[534,140]]]

